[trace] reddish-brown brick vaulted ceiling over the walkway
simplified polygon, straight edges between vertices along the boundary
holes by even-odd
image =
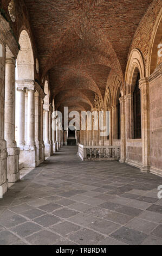
[[[90,110],[110,72],[124,76],[129,47],[152,0],[25,0],[41,76],[56,109]]]

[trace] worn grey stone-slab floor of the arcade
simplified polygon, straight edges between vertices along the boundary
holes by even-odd
[[[162,245],[162,178],[64,147],[0,199],[0,245]]]

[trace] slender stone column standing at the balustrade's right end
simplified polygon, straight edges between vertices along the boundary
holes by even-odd
[[[120,104],[121,104],[121,155],[120,155],[120,162],[124,163],[126,161],[126,108],[125,108],[125,96],[121,92],[121,97],[120,97]]]

